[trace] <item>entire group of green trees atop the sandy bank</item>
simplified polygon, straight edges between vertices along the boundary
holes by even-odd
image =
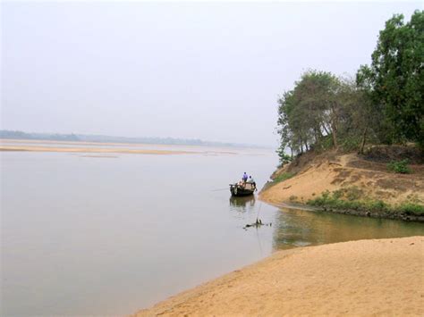
[[[371,65],[355,79],[306,71],[278,99],[282,163],[310,149],[363,152],[366,143],[424,146],[424,11],[394,15],[379,32]],[[290,155],[286,153],[290,152]]]

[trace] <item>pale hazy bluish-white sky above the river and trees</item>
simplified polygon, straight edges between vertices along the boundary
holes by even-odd
[[[276,144],[302,71],[354,75],[415,3],[1,4],[2,129]]]

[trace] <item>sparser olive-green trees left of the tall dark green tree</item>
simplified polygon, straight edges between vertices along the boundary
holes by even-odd
[[[370,96],[350,79],[325,71],[306,71],[293,90],[278,100],[280,151],[301,154],[311,148],[340,147],[351,152],[374,136]]]

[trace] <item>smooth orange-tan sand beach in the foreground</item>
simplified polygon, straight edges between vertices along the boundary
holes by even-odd
[[[424,237],[280,251],[156,304],[152,315],[424,315]]]

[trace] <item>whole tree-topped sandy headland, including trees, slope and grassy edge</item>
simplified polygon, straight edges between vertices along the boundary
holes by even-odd
[[[403,20],[386,21],[354,78],[306,71],[278,99],[281,164],[264,200],[424,220],[424,11]]]

